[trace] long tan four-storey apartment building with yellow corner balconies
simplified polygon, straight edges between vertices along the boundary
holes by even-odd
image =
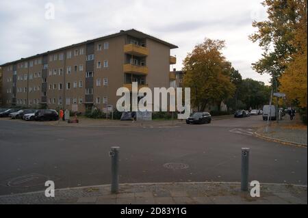
[[[84,112],[116,107],[116,90],[169,87],[177,46],[135,29],[1,65],[3,105]]]

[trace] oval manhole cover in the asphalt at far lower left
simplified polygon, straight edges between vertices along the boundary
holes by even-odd
[[[47,180],[49,180],[48,176],[40,174],[29,174],[12,178],[8,181],[8,186],[17,188],[34,187],[36,185],[44,184]]]

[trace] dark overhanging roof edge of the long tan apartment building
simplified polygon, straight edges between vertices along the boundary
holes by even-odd
[[[44,53],[33,55],[31,57],[21,58],[21,59],[18,59],[16,61],[14,61],[14,62],[8,62],[8,63],[2,64],[0,66],[1,67],[8,66],[8,65],[11,65],[11,64],[15,64],[17,62],[27,61],[28,59],[34,59],[36,57],[41,57],[42,55],[48,55],[49,53],[55,53],[55,52],[58,52],[58,51],[63,51],[63,50],[66,50],[66,49],[70,49],[70,48],[73,48],[75,46],[81,46],[81,45],[84,45],[84,44],[88,44],[88,43],[92,43],[92,42],[97,42],[97,41],[105,40],[105,39],[108,39],[108,38],[114,38],[114,37],[117,37],[117,36],[124,36],[124,35],[133,36],[135,38],[149,38],[151,40],[155,40],[156,42],[160,42],[162,44],[165,44],[166,46],[169,46],[170,49],[177,49],[177,48],[179,48],[178,46],[176,46],[174,44],[170,44],[170,43],[168,43],[168,42],[166,42],[164,40],[159,40],[159,38],[155,38],[154,36],[150,36],[150,35],[148,35],[146,33],[142,33],[141,31],[138,31],[136,29],[129,29],[129,30],[126,30],[126,31],[121,30],[118,33],[114,33],[114,34],[111,34],[111,35],[108,35],[108,36],[103,36],[103,37],[100,37],[100,38],[95,38],[93,40],[87,40],[87,41],[80,42],[80,43],[77,43],[77,44],[71,44],[69,46],[65,46],[65,47],[62,47],[60,49],[55,49],[55,50],[52,50],[52,51],[47,51],[47,52],[44,52]]]

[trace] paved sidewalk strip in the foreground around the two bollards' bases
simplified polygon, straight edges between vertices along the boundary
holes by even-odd
[[[238,182],[144,183],[110,185],[0,196],[0,204],[307,204],[307,186],[261,184],[260,197],[240,191]]]

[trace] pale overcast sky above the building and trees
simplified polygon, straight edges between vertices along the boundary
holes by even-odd
[[[46,19],[47,3],[55,6],[55,18]],[[268,83],[251,63],[261,49],[248,40],[253,20],[266,19],[261,0],[1,0],[0,64],[21,57],[116,33],[137,29],[179,46],[177,70],[182,60],[204,38],[225,40],[224,56],[244,78]]]

